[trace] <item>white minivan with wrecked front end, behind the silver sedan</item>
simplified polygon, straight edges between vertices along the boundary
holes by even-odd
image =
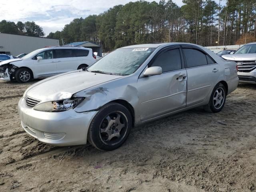
[[[50,47],[38,49],[20,59],[0,63],[0,80],[29,82],[32,78],[85,69],[96,62],[92,49],[84,47]]]

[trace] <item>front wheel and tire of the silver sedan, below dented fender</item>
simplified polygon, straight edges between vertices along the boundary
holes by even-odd
[[[99,150],[111,151],[120,147],[130,134],[132,116],[118,103],[103,106],[93,118],[87,138]]]

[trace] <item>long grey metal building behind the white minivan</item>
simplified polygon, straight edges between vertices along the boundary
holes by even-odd
[[[0,33],[0,54],[17,56],[36,49],[59,46],[58,39]]]

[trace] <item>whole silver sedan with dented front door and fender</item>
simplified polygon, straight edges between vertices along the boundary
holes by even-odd
[[[237,85],[236,63],[202,46],[142,44],[33,84],[18,111],[41,142],[114,150],[139,124],[198,106],[219,112]]]

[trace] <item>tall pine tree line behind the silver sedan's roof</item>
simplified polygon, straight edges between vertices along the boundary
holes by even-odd
[[[172,0],[160,0],[114,6],[99,15],[76,18],[48,37],[63,39],[64,44],[96,42],[105,52],[154,42],[215,46],[255,41],[256,0],[183,0],[183,3],[180,7]]]

